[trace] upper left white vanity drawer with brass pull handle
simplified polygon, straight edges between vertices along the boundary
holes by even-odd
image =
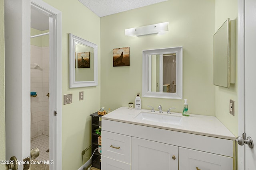
[[[131,163],[130,136],[101,131],[101,137],[103,156],[126,162],[128,164]]]

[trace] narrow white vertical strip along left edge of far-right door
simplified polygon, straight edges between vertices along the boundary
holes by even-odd
[[[238,0],[238,135],[244,133],[244,0]],[[244,146],[238,145],[238,170],[244,170]]]

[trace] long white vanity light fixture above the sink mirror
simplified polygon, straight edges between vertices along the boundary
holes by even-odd
[[[141,36],[168,31],[169,22],[156,23],[142,27],[125,29],[124,34],[128,36]]]

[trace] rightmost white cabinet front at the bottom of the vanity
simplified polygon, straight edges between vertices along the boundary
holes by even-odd
[[[233,158],[179,148],[179,170],[233,170]]]

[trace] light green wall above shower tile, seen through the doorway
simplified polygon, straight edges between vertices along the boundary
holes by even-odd
[[[38,29],[30,28],[30,36],[47,33],[47,32],[49,32],[49,30],[40,31]],[[36,45],[38,47],[49,47],[49,35],[43,35],[40,37],[31,38],[30,44]]]

